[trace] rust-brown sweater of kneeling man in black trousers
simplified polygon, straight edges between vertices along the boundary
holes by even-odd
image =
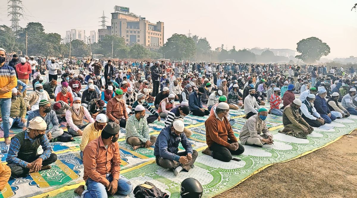
[[[232,130],[231,125],[228,122],[226,117],[223,118],[223,121],[216,118],[216,114],[212,114],[206,121],[206,142],[208,147],[210,147],[213,142],[216,142],[219,145],[229,147],[227,142],[230,139],[232,142],[237,142],[236,136]]]

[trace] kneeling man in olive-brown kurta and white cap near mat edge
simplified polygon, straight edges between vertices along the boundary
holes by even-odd
[[[299,113],[301,105],[301,100],[295,99],[291,104],[285,106],[283,111],[284,129],[279,132],[302,139],[306,139],[306,136],[312,133],[313,128]]]

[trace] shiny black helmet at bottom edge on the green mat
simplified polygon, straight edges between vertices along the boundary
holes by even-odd
[[[181,183],[182,198],[201,198],[203,188],[200,182],[194,178],[187,178]]]

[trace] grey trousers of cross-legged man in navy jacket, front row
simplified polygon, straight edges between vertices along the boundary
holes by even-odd
[[[179,152],[179,153],[176,153],[176,155],[178,155],[178,156],[186,156],[187,153],[186,153],[186,151],[185,152]],[[161,167],[164,167],[164,168],[169,168],[171,170],[175,170],[175,168],[177,168],[178,166],[182,166],[183,169],[188,171],[188,170],[191,169],[193,163],[195,163],[197,156],[198,156],[198,152],[196,150],[193,150],[193,152],[192,152],[192,160],[190,162],[188,162],[187,164],[185,164],[185,165],[181,164],[180,162],[176,162],[176,161],[173,161],[173,160],[162,158],[160,156],[156,156],[156,164],[161,166]]]

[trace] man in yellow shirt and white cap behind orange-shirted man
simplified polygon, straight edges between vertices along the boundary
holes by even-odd
[[[82,134],[80,147],[80,156],[83,159],[83,151],[89,142],[97,139],[101,134],[104,127],[107,125],[107,116],[105,114],[98,114],[94,123],[87,125]]]

